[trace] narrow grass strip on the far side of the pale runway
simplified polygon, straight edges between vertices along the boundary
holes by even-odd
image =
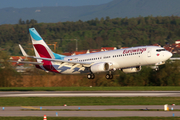
[[[0,91],[180,91],[179,86],[0,87]]]

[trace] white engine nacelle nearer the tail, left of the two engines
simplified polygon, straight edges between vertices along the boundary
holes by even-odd
[[[97,73],[97,72],[106,72],[110,70],[110,65],[109,63],[101,62],[101,63],[96,63],[91,66],[91,72]]]

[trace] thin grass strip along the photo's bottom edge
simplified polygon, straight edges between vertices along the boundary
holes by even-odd
[[[0,117],[0,120],[42,120],[42,117]],[[180,120],[180,117],[48,117],[48,120]]]

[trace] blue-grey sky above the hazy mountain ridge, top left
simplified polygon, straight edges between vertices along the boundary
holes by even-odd
[[[7,7],[30,8],[44,6],[100,5],[113,0],[0,0],[0,9]]]

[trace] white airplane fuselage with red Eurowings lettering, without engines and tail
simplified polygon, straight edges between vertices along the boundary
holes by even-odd
[[[66,61],[88,62],[92,64],[106,62],[111,64],[113,69],[123,69],[144,65],[155,65],[165,62],[172,54],[162,47],[141,46],[97,53],[67,56]],[[53,62],[56,70],[62,74],[86,73],[85,67],[72,64],[58,64]]]

